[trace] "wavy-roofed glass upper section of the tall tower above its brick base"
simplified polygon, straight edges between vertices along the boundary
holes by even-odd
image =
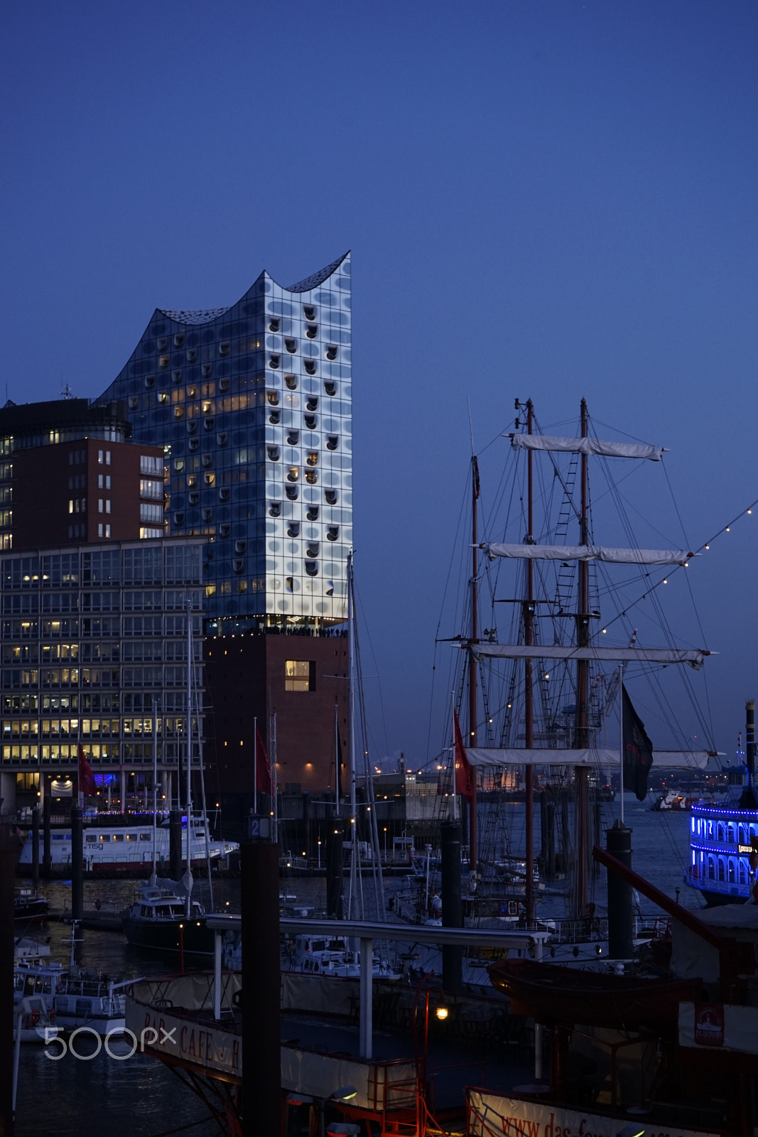
[[[231,308],[157,309],[99,400],[167,448],[168,532],[205,538],[214,631],[347,617],[350,329],[349,254],[290,288],[264,272]]]

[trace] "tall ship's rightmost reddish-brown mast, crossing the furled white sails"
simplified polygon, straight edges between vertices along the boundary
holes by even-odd
[[[588,437],[586,399],[581,405],[581,435]],[[588,492],[588,456],[580,455],[581,480],[581,514],[580,545],[590,543],[589,529],[589,492]],[[576,613],[577,647],[590,646],[590,568],[586,561],[578,564],[578,611]],[[589,716],[589,664],[580,659],[576,664],[576,738],[574,745],[585,750],[590,745]],[[574,767],[576,786],[576,915],[583,916],[586,911],[586,870],[588,870],[588,798],[590,771],[588,766]]]

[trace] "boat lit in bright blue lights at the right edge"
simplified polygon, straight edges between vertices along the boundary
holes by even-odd
[[[744,904],[753,895],[758,869],[758,800],[755,702],[745,705],[744,765],[730,771],[730,794],[723,803],[697,802],[690,822],[690,862],[684,880],[697,888],[709,906]]]

